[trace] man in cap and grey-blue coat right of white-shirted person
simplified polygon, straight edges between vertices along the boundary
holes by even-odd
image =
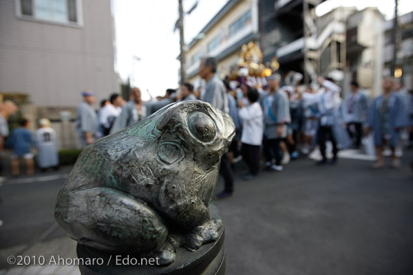
[[[279,88],[279,74],[268,76],[268,92],[262,94],[260,104],[264,111],[264,137],[262,140],[266,170],[281,171],[282,152],[280,143],[287,137],[290,123],[288,96]],[[275,164],[273,164],[275,159]]]

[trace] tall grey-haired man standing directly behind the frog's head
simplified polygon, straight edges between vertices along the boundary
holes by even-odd
[[[213,107],[229,113],[228,97],[222,80],[215,74],[217,72],[217,61],[213,57],[202,58],[199,74],[207,82],[205,89],[201,92],[200,100],[208,102]],[[234,175],[229,162],[228,153],[221,158],[220,174],[224,177],[224,190],[217,195],[218,199],[231,197],[234,192]]]

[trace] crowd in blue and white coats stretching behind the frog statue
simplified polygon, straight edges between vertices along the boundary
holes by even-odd
[[[240,156],[248,166],[244,179],[251,180],[260,173],[260,159],[264,170],[277,172],[299,155],[317,159],[317,165],[337,164],[340,149],[361,149],[367,146],[362,141],[366,143],[370,137],[377,154],[372,168],[385,165],[386,148],[390,149],[391,166],[401,166],[401,148],[412,139],[413,97],[393,78],[384,78],[381,95],[370,100],[356,81],[343,95],[335,80],[322,76],[306,86],[300,85],[301,74],[290,72],[284,81],[288,85],[280,87],[278,74],[257,83],[248,78],[222,80],[216,71],[215,58],[203,58],[199,75],[205,85],[198,91],[184,83],[178,90],[167,89],[163,97],[143,102],[140,89],[133,88],[129,102],[113,94],[97,114],[92,108],[93,93],[83,92],[76,118],[83,145],[130,126],[171,102],[199,99],[229,113],[236,128],[233,143],[222,156],[220,173],[225,187],[218,198],[233,194],[233,163]]]

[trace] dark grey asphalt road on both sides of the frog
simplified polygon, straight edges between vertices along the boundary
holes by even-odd
[[[354,159],[316,167],[300,159],[253,181],[242,181],[237,164],[235,196],[213,201],[226,226],[226,274],[413,274],[407,159],[412,152],[401,170],[370,170],[370,162]],[[63,182],[0,186],[0,255],[30,243],[71,242],[53,218]]]

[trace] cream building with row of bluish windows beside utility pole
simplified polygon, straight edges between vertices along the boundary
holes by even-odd
[[[258,0],[229,0],[215,17],[189,44],[187,52],[187,78],[198,87],[200,59],[213,56],[218,59],[218,74],[229,74],[240,59],[242,45],[259,44]]]

